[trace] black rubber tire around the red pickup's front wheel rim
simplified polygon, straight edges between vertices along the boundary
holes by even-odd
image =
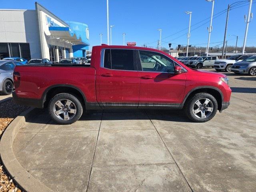
[[[198,100],[204,100],[204,99],[205,99],[205,100],[208,99],[208,100],[211,101],[211,103],[209,102],[208,105],[211,104],[211,107],[212,107],[213,109],[212,109],[212,112],[211,112],[211,113],[208,112],[208,111],[206,111],[206,110],[203,110],[204,113],[205,113],[205,115],[206,115],[206,117],[205,117],[205,118],[200,118],[200,117],[197,117],[197,116],[193,113],[194,105],[195,105],[195,102],[196,102],[196,101],[198,101]],[[206,105],[206,106],[204,106],[204,107],[208,108],[208,107],[209,107],[208,105]],[[207,106],[208,106],[208,107],[207,107]],[[204,108],[204,107],[203,107],[203,108]],[[199,109],[200,109],[200,108],[199,108]],[[192,120],[192,121],[194,121],[194,122],[207,122],[207,121],[211,120],[211,119],[215,116],[215,114],[216,114],[216,112],[217,112],[217,110],[218,110],[218,102],[217,102],[217,100],[214,98],[214,96],[212,96],[211,94],[208,94],[208,93],[197,93],[197,94],[195,94],[194,96],[192,96],[191,98],[189,98],[189,99],[186,101],[185,106],[184,106],[184,110],[185,110],[186,116],[187,116],[190,120]],[[201,111],[200,111],[200,112],[201,112]],[[198,113],[199,113],[199,112],[198,112]],[[198,113],[197,113],[197,114],[198,114]],[[198,116],[202,116],[201,113],[200,113]]]

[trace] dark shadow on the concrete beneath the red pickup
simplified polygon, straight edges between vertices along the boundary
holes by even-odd
[[[26,122],[34,124],[58,125],[51,120],[48,110],[34,109],[33,115],[25,117]],[[83,113],[79,121],[95,120],[162,120],[172,122],[192,122],[183,110],[90,110]]]

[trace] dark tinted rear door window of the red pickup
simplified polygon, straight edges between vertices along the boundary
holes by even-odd
[[[104,68],[115,70],[134,70],[133,50],[106,49]]]

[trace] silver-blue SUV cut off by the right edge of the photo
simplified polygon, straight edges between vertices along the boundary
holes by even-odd
[[[256,75],[256,56],[251,56],[240,62],[236,62],[232,65],[231,71],[235,74],[249,74],[250,76]]]

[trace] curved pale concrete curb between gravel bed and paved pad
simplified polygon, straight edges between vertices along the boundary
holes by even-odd
[[[53,192],[50,188],[36,180],[16,159],[12,144],[19,129],[26,122],[26,119],[34,115],[34,108],[22,112],[6,128],[0,140],[0,156],[6,171],[18,184],[21,190],[26,192]]]

